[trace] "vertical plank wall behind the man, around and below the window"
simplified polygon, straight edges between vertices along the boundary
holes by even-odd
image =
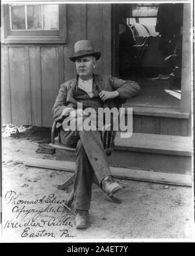
[[[78,40],[92,40],[102,53],[97,73],[111,72],[110,12],[109,4],[68,4],[66,45],[2,45],[2,123],[52,125],[51,108],[59,86],[75,76],[68,56]]]

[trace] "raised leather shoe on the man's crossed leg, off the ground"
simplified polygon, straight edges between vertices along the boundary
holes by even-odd
[[[107,176],[103,179],[103,181],[101,182],[101,187],[109,197],[122,189],[122,186],[119,185],[117,182],[114,182],[111,176]]]

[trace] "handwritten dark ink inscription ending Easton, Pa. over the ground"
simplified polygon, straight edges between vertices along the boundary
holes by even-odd
[[[73,227],[72,209],[55,194],[25,200],[21,193],[10,190],[5,194],[5,202],[11,206],[11,217],[4,221],[3,229],[19,229],[22,238],[55,238],[56,233],[60,238],[75,237],[69,231]]]

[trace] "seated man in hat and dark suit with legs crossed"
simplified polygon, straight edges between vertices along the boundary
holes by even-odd
[[[135,82],[93,74],[101,53],[94,52],[89,40],[76,42],[74,49],[75,54],[69,59],[75,62],[77,77],[60,86],[52,112],[58,122],[62,143],[76,148],[73,184],[75,222],[78,229],[84,229],[88,227],[93,176],[96,176],[99,186],[107,195],[113,195],[122,187],[112,178],[98,129],[86,131],[85,127],[78,129],[79,125],[75,129],[68,129],[68,123],[75,120],[82,125],[86,108],[93,108],[98,113],[98,108],[116,107],[117,98],[131,98],[139,93],[140,87]],[[78,103],[82,103],[83,108],[77,108]]]

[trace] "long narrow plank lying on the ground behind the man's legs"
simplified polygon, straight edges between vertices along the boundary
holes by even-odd
[[[14,161],[31,167],[75,172],[75,163],[71,161],[37,159],[32,157],[19,158],[15,159]],[[192,186],[192,176],[188,174],[170,174],[165,172],[151,172],[133,168],[115,167],[110,167],[110,171],[115,178],[142,182],[155,182],[161,184]]]

